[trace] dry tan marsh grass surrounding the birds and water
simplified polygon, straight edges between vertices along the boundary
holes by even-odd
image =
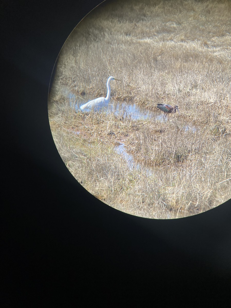
[[[114,1],[71,33],[49,121],[67,168],[95,197],[149,218],[194,215],[230,198],[230,16],[225,0]],[[121,79],[111,82],[111,104],[159,115],[157,103],[177,105],[180,115],[164,121],[79,110],[106,96],[109,76]]]

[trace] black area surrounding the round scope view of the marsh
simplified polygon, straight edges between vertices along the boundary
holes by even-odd
[[[176,220],[128,215],[91,196],[55,147],[51,73],[99,3],[1,2],[1,306],[226,307],[228,202]]]

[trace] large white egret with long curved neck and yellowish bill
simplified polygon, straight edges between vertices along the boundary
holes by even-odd
[[[110,95],[111,95],[111,87],[110,87],[111,80],[119,80],[120,81],[120,79],[116,79],[116,78],[110,76],[107,79],[107,96],[106,97],[98,97],[96,99],[92,99],[92,100],[90,100],[90,102],[87,102],[87,103],[83,104],[82,106],[80,106],[80,109],[82,111],[90,111],[90,110],[97,111],[101,107],[108,106],[109,105],[109,101],[110,101]]]

